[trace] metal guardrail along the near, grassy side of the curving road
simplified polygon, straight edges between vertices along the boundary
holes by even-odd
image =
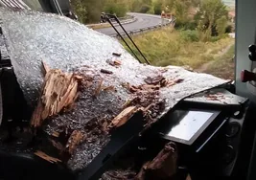
[[[175,26],[175,22],[176,22],[176,18],[173,18],[172,20],[170,19],[165,19],[166,23],[163,23],[163,24],[159,24],[159,25],[156,25],[156,26],[151,26],[151,27],[147,27],[147,28],[142,28],[142,29],[137,29],[137,30],[133,30],[133,31],[128,31],[128,34],[130,35],[138,35],[138,34],[143,34],[143,33],[146,33],[146,32],[151,32],[151,31],[154,31],[154,30],[157,30],[157,29],[160,29],[160,28],[163,28],[163,27],[167,27],[167,26]],[[123,36],[127,36],[125,33],[120,33],[121,35]],[[119,35],[118,34],[111,34],[109,35],[111,37],[117,37],[119,38]]]

